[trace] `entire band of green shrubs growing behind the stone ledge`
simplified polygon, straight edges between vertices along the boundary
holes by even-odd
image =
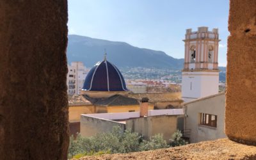
[[[113,127],[111,132],[100,133],[88,138],[83,138],[81,135],[77,135],[75,140],[74,136],[71,136],[68,148],[68,158],[129,153],[185,145],[186,142],[184,140],[182,141],[181,132],[177,132],[173,134],[170,143],[167,143],[163,139],[163,134],[156,134],[152,136],[150,140],[144,140],[143,136],[140,136],[136,132],[131,132],[129,129],[122,132],[120,127]]]

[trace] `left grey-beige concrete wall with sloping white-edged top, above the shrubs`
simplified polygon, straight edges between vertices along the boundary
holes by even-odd
[[[112,120],[95,118],[93,116],[82,115],[80,133],[83,137],[95,136],[101,132],[111,132],[114,126],[119,126],[122,131],[125,130],[125,124]]]

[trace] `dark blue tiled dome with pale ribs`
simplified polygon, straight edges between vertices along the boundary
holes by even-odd
[[[84,91],[127,91],[124,77],[107,60],[98,62],[85,78]]]

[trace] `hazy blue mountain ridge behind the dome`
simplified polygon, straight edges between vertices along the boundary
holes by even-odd
[[[181,70],[184,59],[172,58],[165,52],[134,47],[125,42],[111,42],[87,36],[68,35],[67,58],[71,61],[83,61],[86,67],[92,67],[102,61],[104,49],[107,58],[117,67],[168,68]]]

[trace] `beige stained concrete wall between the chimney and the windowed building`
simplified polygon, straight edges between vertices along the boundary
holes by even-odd
[[[173,132],[177,130],[177,115],[147,116],[126,120],[126,129],[143,134],[150,138],[155,134],[162,133],[163,138],[169,141]]]

